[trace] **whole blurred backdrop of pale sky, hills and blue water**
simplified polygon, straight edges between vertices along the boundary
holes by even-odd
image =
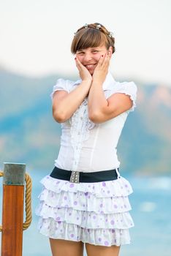
[[[133,80],[138,88],[137,108],[118,143],[121,175],[134,189],[135,222],[132,245],[123,246],[121,256],[170,255],[170,14],[170,0],[1,1],[0,169],[3,162],[25,162],[33,180],[33,222],[24,232],[23,256],[50,255],[34,214],[39,180],[52,170],[60,142],[50,92],[58,78],[77,79],[72,38],[94,22],[113,31],[115,80]]]

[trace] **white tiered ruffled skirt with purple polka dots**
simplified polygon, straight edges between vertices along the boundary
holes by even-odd
[[[125,178],[75,184],[45,176],[41,183],[36,211],[40,233],[101,246],[130,243],[132,187]]]

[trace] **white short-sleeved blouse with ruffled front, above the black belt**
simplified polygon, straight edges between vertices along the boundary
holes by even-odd
[[[58,79],[55,91],[64,90],[68,93],[79,86],[76,82]],[[96,172],[118,168],[120,162],[117,157],[117,144],[123,125],[130,111],[135,108],[137,86],[134,82],[116,82],[110,72],[103,83],[106,99],[115,93],[130,96],[132,108],[119,116],[94,124],[88,119],[88,99],[84,99],[80,107],[69,120],[61,124],[61,147],[55,165],[64,170],[78,170],[80,172]]]

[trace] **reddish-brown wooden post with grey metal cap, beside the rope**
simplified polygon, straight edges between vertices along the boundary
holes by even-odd
[[[25,164],[4,163],[1,256],[21,256]]]

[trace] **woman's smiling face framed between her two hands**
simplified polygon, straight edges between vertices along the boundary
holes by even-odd
[[[112,56],[112,50],[112,47],[107,50],[105,45],[95,48],[86,48],[83,50],[77,50],[76,57],[80,63],[83,64],[86,69],[88,69],[91,75],[93,75],[94,69],[99,62],[100,56],[104,56],[106,53]]]

